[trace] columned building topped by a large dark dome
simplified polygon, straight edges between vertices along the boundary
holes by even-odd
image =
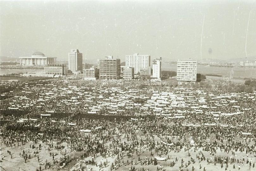
[[[20,57],[21,65],[48,65],[55,63],[56,57],[47,57],[42,52],[34,52],[31,57]]]

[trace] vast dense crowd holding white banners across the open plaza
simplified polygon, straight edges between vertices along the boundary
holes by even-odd
[[[147,86],[141,88],[142,84]],[[37,170],[41,165],[65,167],[74,151],[80,156],[76,170],[146,170],[151,165],[160,170],[166,162],[179,170],[207,170],[201,162],[209,168],[255,166],[255,93],[169,88],[142,81],[58,80],[16,86],[6,92],[10,98],[0,101],[1,146],[21,147],[24,163],[37,157]],[[16,115],[19,110],[27,113]],[[25,153],[22,146],[31,142]],[[41,161],[42,149],[48,150],[51,161]],[[182,151],[189,160],[170,155]],[[97,157],[102,157],[100,163]],[[1,162],[5,158],[1,156]],[[195,163],[200,166],[195,168]]]

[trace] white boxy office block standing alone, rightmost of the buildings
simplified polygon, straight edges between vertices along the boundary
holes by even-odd
[[[196,82],[197,81],[197,61],[193,61],[190,58],[178,60],[177,81]]]

